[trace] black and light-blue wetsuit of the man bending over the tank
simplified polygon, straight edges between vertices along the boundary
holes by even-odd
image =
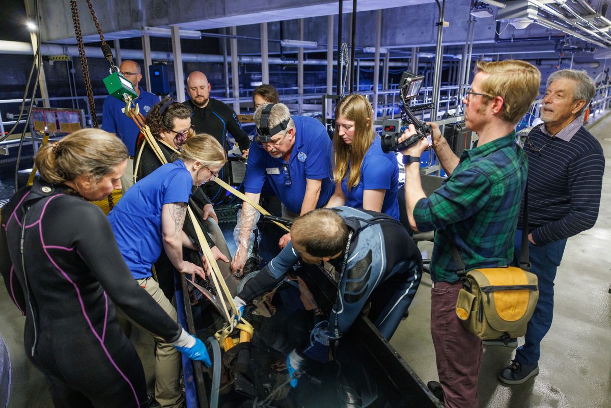
[[[331,262],[340,274],[340,282],[327,330],[333,338],[341,337],[370,300],[368,317],[388,340],[420,285],[420,251],[405,227],[386,214],[345,206],[332,209],[345,220],[353,235],[348,253],[342,252]],[[252,302],[282,282],[300,260],[301,255],[289,242],[276,258],[246,282],[238,296]]]

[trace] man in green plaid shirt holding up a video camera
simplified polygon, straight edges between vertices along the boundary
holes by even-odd
[[[433,148],[448,174],[428,199],[420,184],[419,157],[426,139],[402,151],[405,199],[414,230],[436,230],[431,260],[431,335],[439,383],[429,382],[446,407],[477,407],[477,378],[482,346],[456,316],[462,287],[452,259],[452,242],[466,270],[495,268],[511,263],[527,158],[515,143],[514,126],[539,93],[541,73],[519,60],[482,62],[471,89],[463,98],[467,129],[478,134],[478,144],[458,158],[433,126]],[[399,142],[415,134],[413,125]]]

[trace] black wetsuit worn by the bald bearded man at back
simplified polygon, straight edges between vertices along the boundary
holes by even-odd
[[[251,139],[242,129],[237,115],[230,106],[214,98],[210,98],[205,107],[197,107],[191,100],[183,104],[191,109],[191,126],[196,133],[208,133],[216,137],[225,151],[233,148],[227,140],[227,132],[238,142],[240,150],[247,150],[251,146]],[[229,166],[229,163],[225,164],[219,173],[219,178],[225,183],[229,183]],[[225,197],[225,190],[216,183],[206,186],[205,191],[213,203],[220,203]]]

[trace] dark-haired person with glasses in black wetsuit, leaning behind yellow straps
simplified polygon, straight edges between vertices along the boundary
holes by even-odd
[[[165,98],[156,104],[149,112],[146,123],[158,141],[159,148],[161,148],[167,162],[172,162],[172,156],[179,153],[180,147],[185,144],[186,139],[195,134],[191,127],[191,111],[183,104],[172,100],[172,98]],[[139,140],[137,145],[135,163],[134,175],[136,176],[136,181],[142,180],[142,178],[162,165],[155,151],[153,151],[153,148],[144,137]],[[237,282],[230,269],[229,261],[231,260],[231,253],[218,225],[213,205],[203,191],[202,186],[193,186],[192,195],[189,198],[189,207],[196,214],[199,225],[207,236],[210,247],[216,246],[222,255],[224,255],[217,264],[225,279],[225,283],[227,283],[227,288],[229,288],[232,296],[235,296]],[[197,240],[194,227],[188,217],[185,219],[184,229],[191,239]],[[199,263],[198,252],[185,249],[184,255],[188,257],[189,261]],[[159,259],[155,262],[155,271],[157,272],[159,287],[168,299],[172,299],[174,294],[175,268],[163,249]]]

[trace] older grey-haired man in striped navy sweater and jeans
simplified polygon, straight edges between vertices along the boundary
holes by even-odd
[[[499,374],[505,384],[522,384],[539,373],[540,343],[552,324],[554,278],[566,239],[596,222],[605,159],[601,144],[582,125],[595,86],[585,71],[560,70],[547,79],[541,105],[543,125],[526,137],[531,271],[539,279],[539,301],[525,343]],[[520,257],[522,217],[514,256]],[[513,343],[517,345],[516,339]],[[490,342],[484,342],[490,344]]]

